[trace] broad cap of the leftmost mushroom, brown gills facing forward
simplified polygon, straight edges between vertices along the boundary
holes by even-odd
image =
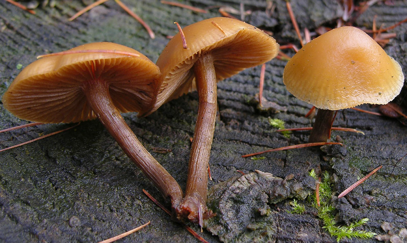
[[[152,102],[159,68],[138,51],[115,43],[90,43],[64,54],[41,58],[27,65],[3,96],[4,107],[15,116],[43,123],[68,123],[95,119],[82,91],[83,82],[96,78],[109,85],[120,112],[140,112]],[[97,53],[97,50],[130,52],[138,56]]]

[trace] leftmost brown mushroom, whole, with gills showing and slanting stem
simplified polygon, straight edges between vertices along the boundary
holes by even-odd
[[[4,94],[4,107],[21,119],[43,123],[98,117],[163,196],[169,197],[172,207],[178,205],[180,186],[120,114],[150,106],[159,68],[138,51],[114,43],[85,44],[65,53],[71,54],[47,56],[26,66]]]

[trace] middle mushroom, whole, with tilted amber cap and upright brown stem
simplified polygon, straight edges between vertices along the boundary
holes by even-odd
[[[202,225],[202,215],[207,212],[207,169],[215,129],[216,83],[271,60],[279,45],[258,28],[224,17],[191,24],[183,32],[185,39],[178,33],[157,60],[162,75],[155,103],[148,113],[188,91],[198,91],[186,194],[177,213],[179,219],[188,218]]]

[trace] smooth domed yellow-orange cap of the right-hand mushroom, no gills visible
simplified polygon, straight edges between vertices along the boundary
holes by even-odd
[[[285,68],[283,81],[297,98],[319,109],[385,104],[403,86],[400,65],[364,31],[351,26],[304,45]]]

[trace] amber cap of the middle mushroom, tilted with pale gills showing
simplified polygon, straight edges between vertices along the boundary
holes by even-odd
[[[192,66],[203,54],[212,53],[216,78],[220,81],[245,68],[271,60],[279,50],[279,45],[268,34],[231,18],[205,19],[186,26],[183,32],[188,48],[183,48],[178,33],[168,42],[157,60],[162,76],[151,112],[167,100],[196,90]]]

